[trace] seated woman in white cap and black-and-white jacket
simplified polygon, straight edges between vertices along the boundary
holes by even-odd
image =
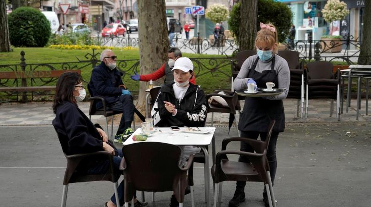
[[[158,127],[188,126],[203,127],[206,121],[205,94],[200,87],[189,82],[193,73],[193,63],[187,57],[180,57],[175,61],[174,83],[161,87],[151,116]],[[181,156],[179,166],[183,166],[191,154],[200,152],[199,147],[179,146]],[[173,195],[170,206],[178,206]]]

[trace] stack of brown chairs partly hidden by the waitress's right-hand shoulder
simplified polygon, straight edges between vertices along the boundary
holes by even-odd
[[[298,99],[296,115],[299,117],[300,106],[300,117],[302,118],[304,108],[304,61],[300,61],[300,53],[297,51],[278,51],[278,55],[287,61],[290,69],[290,86],[287,98]]]

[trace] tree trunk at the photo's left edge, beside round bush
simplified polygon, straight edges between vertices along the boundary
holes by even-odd
[[[8,17],[5,1],[0,2],[0,52],[10,51]]]

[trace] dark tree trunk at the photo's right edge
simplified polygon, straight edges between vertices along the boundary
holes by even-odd
[[[366,1],[363,15],[363,31],[362,31],[362,44],[358,64],[371,64],[371,1]]]

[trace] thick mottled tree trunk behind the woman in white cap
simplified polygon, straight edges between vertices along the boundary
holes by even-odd
[[[146,0],[138,2],[138,30],[139,32],[139,56],[140,74],[153,73],[167,61],[169,39],[165,14],[165,0]],[[154,81],[154,86],[160,86],[161,80]],[[141,81],[139,84],[139,96],[137,108],[145,112],[145,90],[148,82]]]

